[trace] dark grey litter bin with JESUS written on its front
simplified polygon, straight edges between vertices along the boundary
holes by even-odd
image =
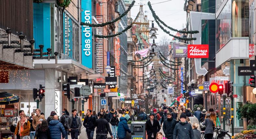
[[[146,122],[131,123],[131,139],[146,139]]]

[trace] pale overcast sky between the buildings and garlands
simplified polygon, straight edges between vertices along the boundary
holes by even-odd
[[[150,27],[151,27],[151,20],[154,20],[154,17],[152,16],[152,13],[150,11],[150,9],[147,6],[147,2],[148,0],[135,0],[135,4],[131,9],[131,16],[133,19],[135,19],[135,17],[137,16],[138,12],[139,12],[139,4],[140,2],[142,2],[144,4],[143,6],[143,11],[144,11],[144,15],[148,16],[148,19],[150,20]],[[170,27],[173,27],[175,29],[182,29],[183,27],[186,27],[186,11],[183,10],[184,7],[184,0],[149,0],[153,10],[156,12],[156,15],[165,22],[165,24],[167,24]],[[165,2],[167,1],[167,2]],[[163,2],[163,3],[159,3],[159,2]],[[159,3],[159,4],[155,4],[155,3]],[[155,39],[156,42],[158,42],[161,37],[163,36],[167,36],[169,37],[169,39],[172,39],[171,36],[169,36],[168,34],[166,34],[165,32],[163,32],[161,30],[161,28],[158,27],[157,23],[154,22],[154,26],[158,28],[157,31],[157,39]],[[165,28],[168,31],[168,28]],[[176,34],[176,32],[171,31],[171,33],[173,35]],[[152,42],[152,40],[150,40],[150,42]]]

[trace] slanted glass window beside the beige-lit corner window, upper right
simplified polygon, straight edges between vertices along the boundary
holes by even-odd
[[[228,0],[216,19],[216,51],[231,38],[231,0]]]

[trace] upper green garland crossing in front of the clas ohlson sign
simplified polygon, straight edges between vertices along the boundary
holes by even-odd
[[[80,25],[82,26],[89,26],[89,27],[104,27],[104,26],[107,26],[107,25],[110,25],[118,20],[120,20],[123,16],[127,15],[127,13],[131,10],[131,8],[133,7],[135,1],[132,2],[131,5],[129,5],[128,9],[122,13],[121,16],[117,17],[116,19],[114,19],[113,21],[109,21],[109,22],[106,22],[106,23],[101,23],[101,24],[89,24],[89,23],[84,23],[84,22],[81,22]]]

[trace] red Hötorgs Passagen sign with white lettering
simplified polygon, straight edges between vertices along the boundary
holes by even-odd
[[[188,58],[209,58],[209,45],[208,44],[196,44],[188,45]]]

